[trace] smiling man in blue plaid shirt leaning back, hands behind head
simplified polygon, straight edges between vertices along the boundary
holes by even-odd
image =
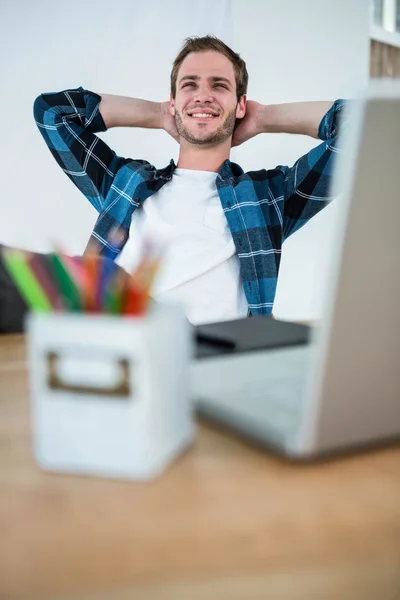
[[[153,296],[182,303],[196,324],[271,314],[284,240],[331,199],[344,102],[262,105],[247,100],[247,84],[239,54],[206,36],[185,40],[169,102],[77,88],[34,106],[53,156],[99,212],[91,247],[130,270],[144,238],[165,236]],[[164,129],[179,143],[177,165],[118,156],[96,136],[111,127]],[[293,167],[244,173],[230,161],[232,146],[277,132],[322,143]]]

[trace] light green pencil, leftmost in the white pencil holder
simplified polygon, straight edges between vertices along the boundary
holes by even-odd
[[[21,296],[33,310],[51,312],[53,306],[29,267],[25,254],[19,250],[4,250],[4,264]]]

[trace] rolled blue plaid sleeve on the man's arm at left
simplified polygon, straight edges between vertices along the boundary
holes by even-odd
[[[79,87],[41,94],[34,103],[36,124],[64,173],[100,212],[124,159],[95,134],[106,131],[101,97]]]

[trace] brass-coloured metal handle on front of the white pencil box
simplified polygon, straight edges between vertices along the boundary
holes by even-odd
[[[131,394],[129,382],[129,362],[126,358],[120,358],[118,365],[120,367],[120,380],[112,387],[75,385],[66,383],[62,380],[58,372],[60,356],[57,352],[47,353],[47,385],[53,390],[62,390],[66,392],[75,392],[82,394],[95,394],[96,396],[117,396],[128,397]]]

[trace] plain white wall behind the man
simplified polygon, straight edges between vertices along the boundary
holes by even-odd
[[[1,0],[0,242],[81,252],[96,213],[52,159],[32,118],[43,91],[82,85],[167,100],[171,64],[185,37],[213,33],[247,63],[248,97],[263,103],[353,96],[368,79],[366,0]],[[162,131],[102,137],[120,155],[157,166],[178,156]],[[301,136],[258,136],[232,151],[245,170],[291,164],[314,145]],[[316,318],[327,274],[332,205],[284,247],[274,308]]]

